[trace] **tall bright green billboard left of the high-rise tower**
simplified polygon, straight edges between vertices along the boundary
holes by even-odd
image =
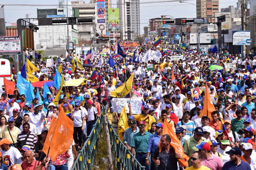
[[[108,32],[120,31],[119,8],[108,8]]]

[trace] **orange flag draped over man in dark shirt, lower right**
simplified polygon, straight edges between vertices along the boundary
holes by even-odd
[[[176,136],[176,134],[172,130],[172,127],[170,126],[170,124],[168,123],[168,121],[166,119],[164,119],[164,127],[163,127],[163,131],[162,131],[162,136],[165,134],[170,135],[171,140],[172,140],[170,145],[174,148],[175,152],[180,154],[180,156],[183,159],[188,160],[189,157],[186,154],[184,154],[183,147],[181,145],[180,140],[178,139],[178,137]],[[162,146],[161,146],[160,141],[159,141],[158,146],[159,146],[159,152],[161,152]],[[186,162],[182,159],[178,159],[178,162],[182,167],[188,165],[188,162]]]

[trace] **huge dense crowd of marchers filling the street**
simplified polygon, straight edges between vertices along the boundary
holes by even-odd
[[[119,44],[122,47],[122,42]],[[226,51],[213,54],[161,43],[160,48],[165,52],[161,52],[160,61],[154,61],[154,58],[146,61],[148,51],[153,53],[160,48],[144,42],[136,47],[123,48],[125,57],[116,54],[117,48],[118,45],[111,45],[111,52],[106,55],[102,55],[102,49],[98,48],[94,59],[89,61],[84,61],[88,54],[68,55],[67,58],[75,57],[82,63],[91,64],[84,69],[76,66],[74,72],[70,69],[72,63],[62,61],[63,55],[50,68],[46,67],[45,61],[37,60],[35,66],[38,70],[32,74],[40,81],[54,80],[60,67],[65,80],[84,78],[78,86],[63,86],[57,105],[53,101],[58,89],[53,86],[48,87],[50,92],[45,98],[44,88],[38,88],[40,96],[36,95],[35,88],[31,103],[18,88],[13,94],[2,93],[0,147],[3,163],[0,166],[3,169],[21,165],[23,170],[36,166],[38,169],[70,170],[77,158],[77,150],[82,148],[100,116],[101,107],[113,113],[110,92],[124,85],[132,73],[132,88],[123,97],[142,98],[144,104],[141,114],[133,114],[131,104],[128,105],[130,127],[123,134],[123,143],[146,170],[256,169],[256,67],[252,53],[248,57]],[[182,58],[175,59],[175,56]],[[134,57],[140,60],[132,62]],[[32,60],[30,54],[26,54],[26,59]],[[111,66],[110,59],[114,66]],[[236,68],[225,69],[226,63],[236,63]],[[148,69],[149,64],[153,64],[152,69]],[[213,65],[223,69],[210,68]],[[48,73],[42,74],[40,70],[46,68]],[[93,71],[96,72],[94,78],[91,77]],[[11,81],[17,85],[17,76]],[[194,90],[196,88],[198,90]],[[5,91],[4,85],[2,90]],[[215,110],[209,113],[210,116],[200,117],[206,107],[205,92],[209,92]],[[74,141],[69,150],[51,161],[46,158],[47,153],[42,152],[48,134],[45,118],[58,119],[61,110],[73,121]],[[118,121],[120,114],[113,114]],[[162,135],[165,120],[189,157],[184,160],[188,162],[187,166],[178,164],[178,160],[184,158],[170,145],[172,137]]]

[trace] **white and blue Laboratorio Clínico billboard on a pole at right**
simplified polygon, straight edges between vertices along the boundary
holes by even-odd
[[[233,45],[250,45],[252,39],[251,31],[233,31]]]

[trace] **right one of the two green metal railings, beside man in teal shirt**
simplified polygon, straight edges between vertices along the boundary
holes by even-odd
[[[119,139],[118,134],[114,131],[112,124],[108,121],[108,130],[110,135],[110,144],[113,164],[118,170],[145,170],[138,160],[132,155],[124,143]],[[133,163],[131,161],[133,160]]]

